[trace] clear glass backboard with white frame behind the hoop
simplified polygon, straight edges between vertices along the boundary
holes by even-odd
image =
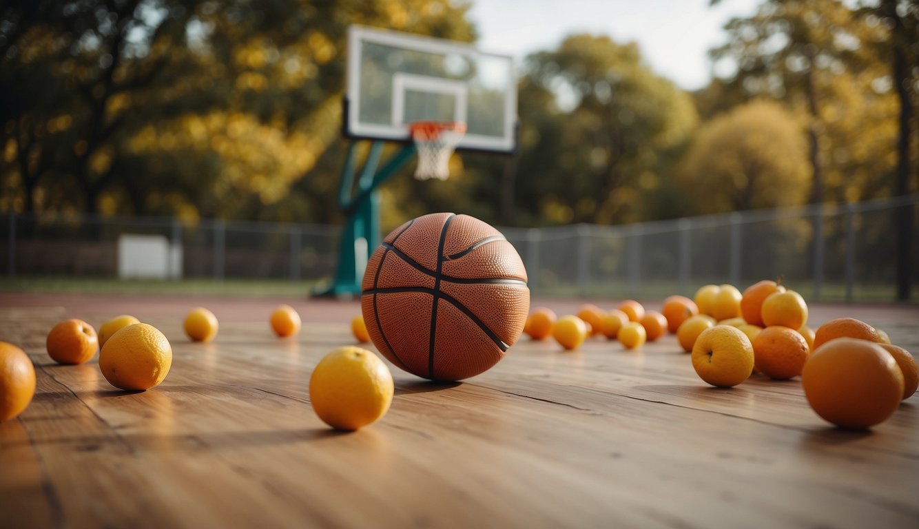
[[[510,56],[469,44],[352,26],[345,133],[410,141],[413,121],[460,121],[457,149],[516,149],[516,78]]]

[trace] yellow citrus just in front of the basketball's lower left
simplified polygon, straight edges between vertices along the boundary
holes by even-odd
[[[312,370],[310,402],[323,422],[353,431],[386,414],[394,389],[390,369],[379,356],[359,347],[339,347]]]

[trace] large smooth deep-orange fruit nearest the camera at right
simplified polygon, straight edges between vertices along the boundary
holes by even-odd
[[[844,337],[814,350],[801,373],[801,386],[824,420],[843,428],[868,428],[897,410],[903,374],[878,343]]]

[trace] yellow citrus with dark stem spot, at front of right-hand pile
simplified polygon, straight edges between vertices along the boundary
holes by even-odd
[[[753,346],[747,335],[730,325],[715,325],[701,334],[692,348],[692,366],[712,386],[731,388],[753,372]]]

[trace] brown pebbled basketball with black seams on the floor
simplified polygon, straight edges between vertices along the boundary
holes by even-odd
[[[432,213],[392,231],[361,285],[370,339],[418,377],[461,380],[504,358],[529,312],[527,271],[500,231]]]

